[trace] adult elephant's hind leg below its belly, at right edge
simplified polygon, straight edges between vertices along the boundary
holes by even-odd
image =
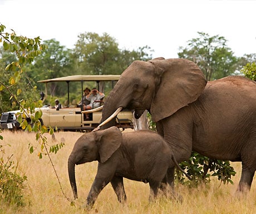
[[[237,191],[247,192],[250,190],[250,186],[252,185],[255,171],[245,167],[243,163],[242,165],[242,176],[240,178]]]

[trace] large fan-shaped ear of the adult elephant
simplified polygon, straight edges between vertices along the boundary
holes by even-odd
[[[156,72],[161,71],[159,86],[152,99],[150,113],[157,122],[194,102],[207,83],[203,72],[188,59],[152,60]]]

